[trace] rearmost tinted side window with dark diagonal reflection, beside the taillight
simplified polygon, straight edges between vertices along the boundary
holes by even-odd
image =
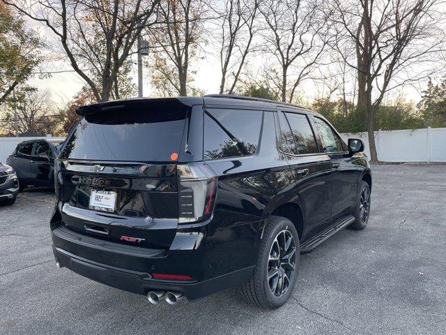
[[[204,159],[249,156],[259,144],[263,112],[206,109]]]

